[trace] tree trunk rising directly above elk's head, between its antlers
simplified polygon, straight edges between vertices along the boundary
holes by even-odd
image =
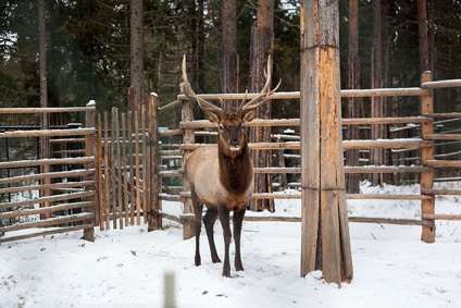
[[[223,72],[224,93],[237,93],[237,8],[236,1],[223,0]],[[225,104],[226,112],[237,110],[237,101]]]

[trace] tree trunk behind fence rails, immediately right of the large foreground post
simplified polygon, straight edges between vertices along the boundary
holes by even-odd
[[[348,85],[350,89],[360,89],[360,58],[359,58],[359,1],[349,0],[349,71]],[[347,118],[359,118],[361,99],[351,97],[348,99]],[[347,139],[358,140],[359,125],[347,127]],[[359,150],[346,150],[346,164],[359,165]],[[350,194],[360,192],[359,174],[346,175],[346,189]]]

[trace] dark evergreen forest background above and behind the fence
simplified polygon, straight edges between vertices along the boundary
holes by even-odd
[[[1,108],[40,106],[39,2],[8,0],[0,4]],[[94,99],[100,111],[112,107],[127,108],[130,86],[129,1],[41,2],[46,12],[48,106],[85,106]],[[228,1],[144,0],[145,93],[157,93],[161,104],[175,100],[179,93],[183,54],[187,54],[189,79],[197,93],[223,93],[225,46],[222,27],[225,14],[222,14],[222,8],[225,2]],[[434,79],[460,76],[461,2],[344,0],[339,1],[342,89],[352,87],[349,81],[350,33],[353,30],[349,23],[350,2],[358,3],[356,34],[360,74],[354,87],[419,86],[423,70],[431,70]],[[237,90],[245,91],[250,88],[251,32],[257,21],[258,1],[235,3]],[[426,9],[426,47],[423,47],[427,50],[426,56],[421,53],[419,8],[422,4]],[[279,90],[284,91],[299,90],[299,1],[274,2],[273,79],[283,79]],[[422,60],[422,57],[426,59]],[[436,96],[436,111],[461,111],[459,96],[458,90]],[[398,103],[386,103],[384,112],[393,116],[408,115],[414,110],[412,103],[418,108],[418,98],[398,98]],[[370,114],[367,106],[360,109],[361,115]],[[299,104],[289,100],[277,101],[273,103],[272,113],[278,118],[298,118]],[[178,116],[180,114],[174,113],[162,116],[161,124],[174,126]]]

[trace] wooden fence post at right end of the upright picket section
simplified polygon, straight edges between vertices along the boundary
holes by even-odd
[[[159,152],[159,99],[157,94],[149,95],[149,136],[150,136],[150,201],[148,208],[148,231],[162,227],[160,217],[162,178],[159,174],[160,152]]]

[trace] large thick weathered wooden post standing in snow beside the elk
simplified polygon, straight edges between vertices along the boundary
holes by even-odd
[[[301,5],[301,275],[350,282],[340,134],[338,0]]]

